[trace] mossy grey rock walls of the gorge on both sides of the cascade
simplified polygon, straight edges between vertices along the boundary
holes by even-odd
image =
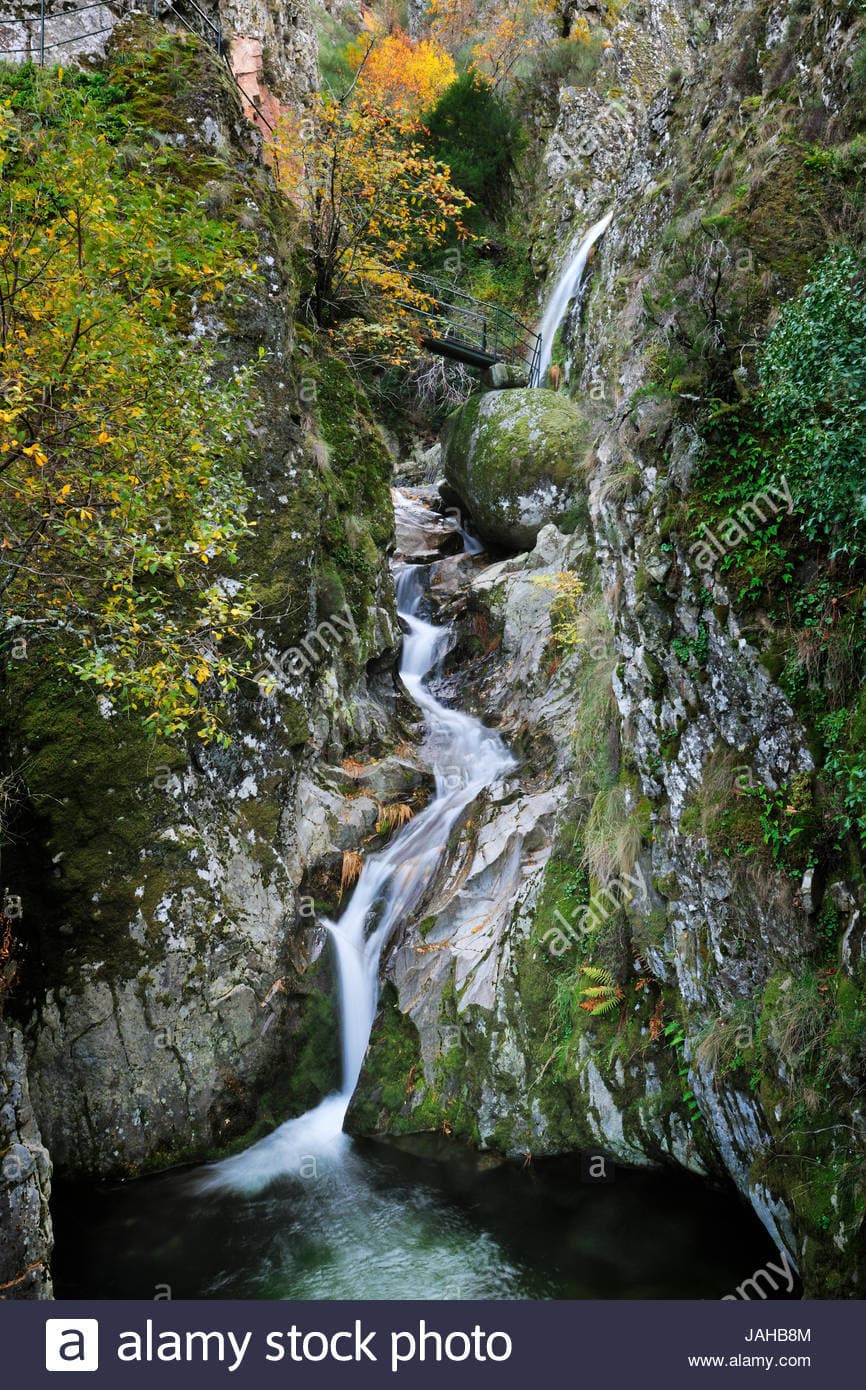
[[[291,8],[222,18],[263,39],[268,90],[303,99],[321,15]],[[235,85],[196,39],[118,14],[100,61],[146,67],[136,121],[256,242],[254,278],[200,331],[227,374],[265,349],[238,571],[257,680],[231,696],[228,746],[190,748],[7,662],[7,1297],[50,1297],[51,1165],[68,1183],[214,1159],[338,1088],[322,919],[432,795],[395,560],[423,567],[449,628],[432,694],[516,767],[461,810],[384,942],[348,1133],[727,1184],[806,1295],[862,1297],[862,852],[838,812],[853,755],[822,723],[828,702],[856,751],[862,584],[845,571],[815,619],[838,550],[803,549],[794,492],[790,513],[758,500],[741,439],[771,452],[745,416],[762,354],[862,238],[863,18],[614,10],[520,170],[548,289],[613,213],[556,338],[563,386],[474,392],[414,463],[296,318],[303,247]],[[760,524],[703,563],[751,503]]]

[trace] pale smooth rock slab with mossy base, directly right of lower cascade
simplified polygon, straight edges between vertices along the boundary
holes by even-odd
[[[563,645],[563,574],[581,587],[569,600],[581,627],[574,645]],[[430,595],[456,624],[446,692],[493,721],[521,762],[470,808],[386,959],[350,1127],[443,1127],[513,1156],[601,1147],[624,1163],[723,1172],[689,1125],[674,1055],[651,1037],[657,997],[639,1001],[610,1069],[591,1026],[569,1036],[557,1019],[562,986],[585,958],[573,927],[589,897],[577,827],[616,759],[613,642],[591,537],[546,525],[530,553],[496,564],[439,560]],[[631,897],[649,908],[645,869],[639,848],[627,872]],[[613,917],[621,897],[609,883],[599,913]]]

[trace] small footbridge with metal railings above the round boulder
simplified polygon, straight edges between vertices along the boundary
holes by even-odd
[[[530,385],[535,385],[541,338],[514,314],[430,275],[413,275],[411,284],[424,296],[424,303],[405,307],[418,320],[421,342],[428,352],[481,370],[498,361],[523,367]]]

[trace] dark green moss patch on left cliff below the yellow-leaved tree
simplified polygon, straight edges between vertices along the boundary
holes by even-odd
[[[149,742],[121,714],[103,717],[90,691],[36,659],[11,663],[4,702],[29,792],[7,881],[39,923],[43,966],[63,979],[75,960],[99,959],[108,977],[132,974],[147,948],[131,940],[129,922],[149,922],[165,892],[195,881],[183,844],[158,838],[165,787],[186,752]]]

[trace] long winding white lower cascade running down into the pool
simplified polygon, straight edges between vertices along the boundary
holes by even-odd
[[[475,553],[478,542],[464,535],[464,546],[467,553]],[[339,1159],[346,1151],[343,1120],[375,1019],[382,948],[431,883],[460,813],[516,766],[498,734],[481,720],[442,705],[427,688],[427,677],[439,669],[449,642],[448,628],[420,616],[428,569],[400,564],[395,567],[395,578],[398,613],[406,630],[400,676],[424,714],[421,752],[435,777],[435,795],[385,849],[366,860],[339,922],[324,922],[334,941],[339,979],[342,1087],[245,1152],[203,1169],[197,1179],[200,1188],[259,1191],[282,1173],[297,1173],[311,1156]]]

